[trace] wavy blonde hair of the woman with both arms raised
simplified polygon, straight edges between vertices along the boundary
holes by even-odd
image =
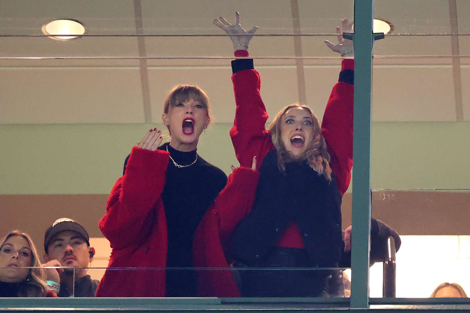
[[[300,107],[307,111],[313,121],[313,139],[307,143],[307,149],[298,158],[295,158],[285,147],[281,137],[281,123],[282,116],[292,107]],[[313,114],[312,110],[300,103],[294,103],[290,106],[283,108],[275,117],[271,125],[269,125],[269,132],[271,133],[271,141],[277,150],[277,164],[282,172],[286,170],[286,163],[294,160],[307,160],[308,164],[315,169],[320,175],[324,175],[331,181],[331,168],[329,167],[330,156],[327,151],[327,145],[323,134],[321,133],[318,118]],[[317,136],[319,135],[319,136]]]

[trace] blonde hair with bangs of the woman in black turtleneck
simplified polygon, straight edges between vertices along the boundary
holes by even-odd
[[[168,112],[170,112],[170,107],[174,107],[179,103],[186,102],[189,99],[199,101],[199,103],[201,103],[201,105],[207,110],[209,122],[213,120],[211,105],[209,104],[209,97],[204,92],[204,90],[193,84],[174,86],[163,102],[163,113],[168,114]],[[170,127],[166,126],[166,128],[170,133]]]

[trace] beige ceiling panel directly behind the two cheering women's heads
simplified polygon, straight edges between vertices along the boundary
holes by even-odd
[[[261,75],[261,95],[270,116],[282,107],[298,101],[296,69],[290,67],[257,67]],[[149,69],[152,118],[161,122],[163,102],[167,93],[177,84],[196,84],[209,95],[216,122],[232,123],[235,101],[230,67],[188,68],[184,70]]]

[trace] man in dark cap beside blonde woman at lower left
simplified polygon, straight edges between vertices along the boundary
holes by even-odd
[[[46,230],[44,251],[47,263],[43,266],[75,267],[58,269],[59,297],[94,297],[100,281],[86,275],[86,267],[93,261],[95,250],[90,247],[90,237],[80,224],[69,218],[56,220]]]

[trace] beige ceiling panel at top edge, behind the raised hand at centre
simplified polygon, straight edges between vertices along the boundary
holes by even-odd
[[[242,26],[259,26],[259,34],[292,32],[290,0],[141,0],[145,33],[151,34],[223,34],[214,18],[224,16],[235,23],[235,11]],[[228,39],[227,39],[228,40]]]

